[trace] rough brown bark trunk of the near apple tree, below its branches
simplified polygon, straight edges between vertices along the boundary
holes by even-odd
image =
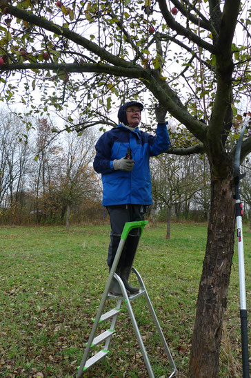
[[[212,178],[210,220],[190,356],[190,378],[219,376],[223,316],[234,253],[234,183]]]

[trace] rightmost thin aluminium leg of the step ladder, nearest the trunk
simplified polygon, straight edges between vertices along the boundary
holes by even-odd
[[[155,311],[154,311],[154,308],[153,308],[153,306],[152,306],[152,302],[150,301],[150,297],[149,297],[149,295],[148,295],[148,292],[147,292],[147,290],[145,289],[145,285],[144,285],[144,283],[143,283],[143,280],[142,280],[142,278],[141,278],[141,275],[139,274],[139,272],[137,272],[136,269],[134,269],[134,267],[132,267],[132,271],[137,275],[137,278],[138,278],[138,280],[139,280],[139,283],[140,283],[140,285],[143,287],[145,300],[146,300],[147,303],[148,303],[148,308],[149,308],[150,313],[151,313],[151,315],[152,315],[152,319],[153,319],[153,321],[154,321],[154,323],[155,323],[155,325],[156,325],[157,331],[158,331],[158,333],[159,333],[159,337],[160,337],[160,339],[161,339],[161,342],[162,342],[162,344],[163,344],[163,347],[165,348],[165,352],[166,352],[166,354],[168,355],[168,360],[169,360],[169,362],[170,362],[170,365],[172,366],[172,369],[173,369],[173,372],[172,372],[172,374],[169,376],[169,378],[170,378],[170,377],[173,377],[174,374],[175,374],[175,372],[177,372],[177,368],[176,368],[176,366],[175,366],[174,359],[172,358],[172,355],[171,355],[170,350],[169,350],[169,348],[168,348],[168,343],[166,342],[165,337],[164,337],[164,334],[163,334],[163,331],[161,330],[161,326],[160,326],[160,324],[159,324],[159,321],[158,321],[158,319],[157,319],[157,315],[156,315],[156,313],[155,313]]]

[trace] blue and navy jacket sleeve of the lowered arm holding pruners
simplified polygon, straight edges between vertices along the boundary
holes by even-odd
[[[109,131],[101,135],[95,145],[96,155],[93,162],[94,171],[97,173],[110,173],[114,171],[113,161],[110,159],[113,140]]]

